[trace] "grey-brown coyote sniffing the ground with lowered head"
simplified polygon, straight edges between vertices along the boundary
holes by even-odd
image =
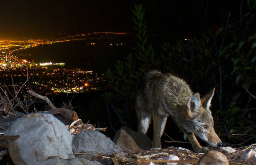
[[[136,95],[138,132],[146,134],[153,118],[153,147],[161,148],[160,138],[170,116],[196,152],[206,152],[208,148],[202,147],[195,135],[214,147],[220,147],[222,142],[213,128],[209,109],[214,90],[200,99],[199,93],[193,94],[184,80],[157,70],[148,72]]]

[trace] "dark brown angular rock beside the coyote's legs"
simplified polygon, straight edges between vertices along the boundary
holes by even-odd
[[[115,134],[113,142],[124,151],[139,153],[151,148],[151,140],[143,133],[137,133],[131,128],[123,126]]]

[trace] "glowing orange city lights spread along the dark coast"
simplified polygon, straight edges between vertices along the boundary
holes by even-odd
[[[49,45],[56,42],[69,42],[72,40],[86,40],[90,38],[90,35],[95,35],[97,38],[112,37],[110,34],[114,35],[127,35],[127,33],[115,33],[115,32],[95,32],[79,35],[69,35],[68,39],[54,39],[54,40],[0,40],[0,75],[5,80],[10,80],[10,75],[15,77],[15,82],[17,84],[23,84],[23,79],[31,78],[34,76],[33,82],[27,82],[24,85],[23,91],[26,92],[30,87],[30,83],[36,84],[38,91],[44,90],[45,87],[49,87],[49,91],[46,91],[47,94],[54,92],[55,94],[59,92],[85,92],[88,90],[100,90],[102,87],[105,87],[106,76],[103,74],[97,74],[92,71],[86,70],[69,70],[62,69],[61,67],[54,68],[54,66],[64,66],[64,62],[53,63],[35,63],[35,60],[29,61],[28,59],[22,59],[23,56],[31,56],[31,54],[20,54],[20,50],[28,49],[31,47],[36,47],[40,45]],[[92,36],[92,37],[95,37]],[[96,37],[95,37],[96,38]],[[92,42],[92,41],[91,41]],[[86,45],[96,45],[94,42],[89,42]],[[109,43],[108,43],[109,44]],[[98,43],[97,43],[98,45]],[[110,46],[122,45],[122,43],[111,43]],[[20,57],[21,58],[20,58]],[[24,57],[25,58],[25,57]],[[51,67],[50,67],[51,66]],[[27,67],[27,69],[26,69]],[[48,67],[51,68],[48,70]],[[33,72],[32,72],[33,71]],[[67,83],[67,75],[68,83]],[[41,78],[45,78],[42,79]],[[41,81],[38,81],[41,80]],[[22,81],[22,82],[21,82]],[[68,87],[67,87],[68,85]],[[48,88],[47,88],[48,89]]]

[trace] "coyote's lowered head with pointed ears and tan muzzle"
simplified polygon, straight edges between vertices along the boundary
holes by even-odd
[[[209,109],[214,90],[202,99],[200,99],[199,93],[195,93],[187,102],[187,115],[191,124],[187,125],[187,131],[195,133],[208,144],[218,147],[222,145],[222,142],[213,128],[212,114]]]

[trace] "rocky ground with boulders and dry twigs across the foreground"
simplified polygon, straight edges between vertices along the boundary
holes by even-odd
[[[69,118],[65,116],[68,111],[62,108],[40,114],[22,114],[13,119],[0,117],[0,133],[5,134],[0,135],[0,159],[9,153],[14,163],[21,162],[21,165],[166,164],[170,160],[179,160],[181,165],[196,165],[205,154],[179,147],[153,149],[148,137],[128,127],[118,130],[112,141],[99,132],[106,128],[97,129],[82,123],[74,111],[70,111],[72,117]],[[19,157],[15,157],[17,150]],[[256,144],[210,150],[223,153],[230,165],[256,165]]]

